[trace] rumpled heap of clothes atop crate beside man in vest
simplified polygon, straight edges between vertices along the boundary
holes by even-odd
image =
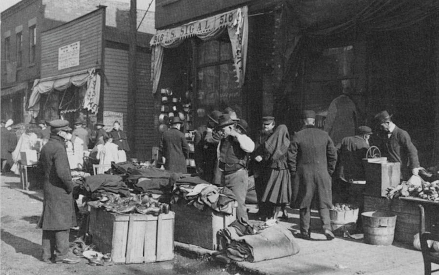
[[[178,184],[173,191],[171,203],[177,203],[180,198],[199,210],[203,210],[207,206],[228,215],[233,213],[236,201],[236,196],[230,189],[220,188],[210,183]]]

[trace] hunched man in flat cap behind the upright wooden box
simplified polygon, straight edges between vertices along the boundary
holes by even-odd
[[[333,195],[335,202],[350,201],[349,187],[352,182],[366,180],[363,158],[366,157],[369,149],[369,138],[372,130],[367,126],[359,126],[357,135],[344,137],[337,146],[338,165],[336,171],[336,182],[333,184]]]

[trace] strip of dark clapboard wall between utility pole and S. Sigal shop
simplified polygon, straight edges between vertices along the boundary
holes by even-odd
[[[150,159],[153,146],[158,146],[159,131],[154,126],[154,97],[151,83],[151,54],[137,52],[136,155]],[[134,152],[133,152],[134,153]]]

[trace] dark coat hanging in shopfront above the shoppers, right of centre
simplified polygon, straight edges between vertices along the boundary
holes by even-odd
[[[347,95],[341,95],[329,104],[323,130],[329,134],[334,144],[338,145],[343,137],[355,136],[357,117],[354,101]]]

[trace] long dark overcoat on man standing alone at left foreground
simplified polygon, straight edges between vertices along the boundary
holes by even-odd
[[[41,149],[40,162],[44,171],[44,200],[39,225],[43,230],[68,230],[76,226],[76,215],[63,138],[50,136]]]

